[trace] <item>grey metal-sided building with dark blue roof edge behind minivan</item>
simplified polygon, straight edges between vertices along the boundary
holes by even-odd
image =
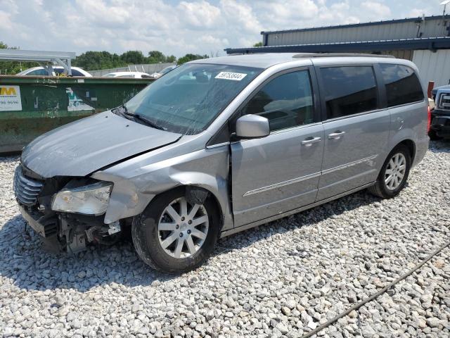
[[[373,23],[261,32],[262,47],[225,49],[227,54],[364,52],[390,54],[418,65],[424,82],[450,83],[450,15]]]

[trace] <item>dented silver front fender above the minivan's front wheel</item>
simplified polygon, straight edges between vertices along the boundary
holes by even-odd
[[[199,187],[210,192],[221,209],[223,230],[233,228],[229,199],[229,147],[201,149],[155,163],[148,154],[91,175],[113,182],[105,223],[139,215],[153,198],[176,187]],[[188,190],[189,191],[189,190]],[[192,197],[195,190],[190,190]]]

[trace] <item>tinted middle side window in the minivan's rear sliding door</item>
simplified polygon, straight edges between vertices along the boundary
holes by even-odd
[[[373,111],[378,90],[371,66],[321,68],[327,118]]]

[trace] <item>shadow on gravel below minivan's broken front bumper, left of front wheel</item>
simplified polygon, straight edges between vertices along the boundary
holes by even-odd
[[[15,215],[0,229],[0,276],[0,284],[11,283],[20,289],[80,292],[106,284],[117,289],[121,285],[145,287],[156,280],[177,277],[148,268],[129,240],[113,246],[91,246],[73,254],[51,251],[34,230],[25,230],[21,215]]]

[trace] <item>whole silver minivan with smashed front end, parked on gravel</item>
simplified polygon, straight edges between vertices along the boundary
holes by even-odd
[[[417,73],[357,55],[186,63],[29,144],[14,179],[20,212],[61,250],[129,231],[151,267],[191,270],[219,237],[361,189],[399,194],[428,149]]]

